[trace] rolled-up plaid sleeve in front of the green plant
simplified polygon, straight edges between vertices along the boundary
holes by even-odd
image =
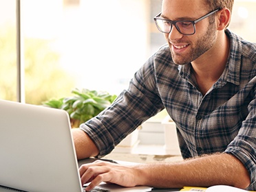
[[[164,108],[156,88],[153,57],[138,70],[129,88],[109,108],[83,123],[80,128],[94,141],[99,156],[105,156],[122,139]]]

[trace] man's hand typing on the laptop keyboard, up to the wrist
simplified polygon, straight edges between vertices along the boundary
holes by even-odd
[[[96,160],[94,163],[81,165],[80,176],[82,184],[91,182],[86,191],[94,189],[100,182],[111,182],[123,187],[136,186],[136,171],[132,166],[124,166],[116,163],[109,163],[103,160]]]

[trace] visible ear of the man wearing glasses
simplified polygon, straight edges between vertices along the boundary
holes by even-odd
[[[228,8],[223,8],[217,13],[217,29],[223,30],[228,27],[231,21],[231,11]]]

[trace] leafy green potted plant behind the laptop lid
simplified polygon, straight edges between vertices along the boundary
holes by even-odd
[[[110,95],[106,91],[90,91],[77,88],[72,91],[74,96],[61,99],[50,99],[43,102],[43,106],[66,110],[70,115],[72,128],[78,128],[81,123],[95,117],[102,110],[111,105],[116,95]]]

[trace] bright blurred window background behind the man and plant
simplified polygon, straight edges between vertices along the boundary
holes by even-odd
[[[228,27],[252,42],[255,9],[256,1],[235,0]],[[0,99],[19,96],[17,52],[25,103],[67,97],[74,88],[118,95],[165,43],[153,23],[160,10],[161,0],[0,0]]]

